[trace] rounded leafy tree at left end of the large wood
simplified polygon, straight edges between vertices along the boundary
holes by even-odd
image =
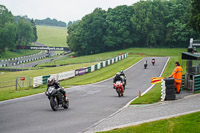
[[[96,8],[82,21],[68,27],[67,43],[78,55],[94,54],[104,51],[105,11]]]

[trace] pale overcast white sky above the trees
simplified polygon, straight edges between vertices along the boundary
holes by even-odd
[[[139,0],[0,0],[0,5],[12,12],[14,16],[27,15],[33,19],[47,17],[64,21],[81,20],[95,8],[115,8],[119,5],[132,5]]]

